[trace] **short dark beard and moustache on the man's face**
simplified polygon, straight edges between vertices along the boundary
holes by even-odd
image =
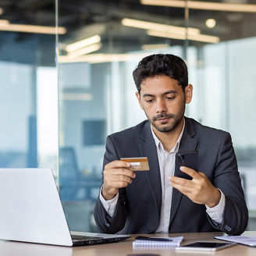
[[[162,133],[168,133],[168,132],[174,130],[176,128],[176,126],[178,126],[180,124],[180,122],[183,119],[184,112],[185,112],[185,102],[184,102],[183,108],[181,108],[180,112],[178,112],[176,115],[167,114],[165,112],[162,112],[161,114],[158,114],[157,116],[153,116],[150,119],[146,112],[145,112],[145,114],[148,117],[149,122],[152,124],[152,126],[155,127],[155,129],[157,129],[159,132],[162,132]],[[169,124],[168,126],[158,126],[158,124],[155,123],[155,121],[157,121],[158,119],[162,119],[162,118],[172,119],[172,123]],[[163,123],[163,125],[165,125],[165,123]]]

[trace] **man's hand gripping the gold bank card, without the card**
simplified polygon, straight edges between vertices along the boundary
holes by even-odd
[[[120,187],[127,187],[135,178],[135,173],[130,169],[130,162],[116,160],[108,162],[103,171],[104,183],[102,187],[102,196],[105,200],[116,197]]]

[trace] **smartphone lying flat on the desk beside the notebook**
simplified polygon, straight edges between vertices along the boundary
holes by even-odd
[[[176,247],[175,249],[177,251],[217,251],[235,244],[236,243],[196,242]]]

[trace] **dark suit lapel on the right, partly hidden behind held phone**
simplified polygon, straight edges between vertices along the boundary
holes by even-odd
[[[183,137],[180,141],[179,151],[194,151],[197,147],[197,139],[193,138],[195,135],[194,126],[192,126],[192,122],[190,119],[185,118],[185,128],[183,132]],[[176,172],[174,173],[176,176]],[[173,188],[172,190],[172,206],[171,206],[171,214],[170,214],[170,225],[172,223],[172,219],[176,215],[177,209],[180,205],[180,200],[183,197],[183,194],[180,193],[179,190]]]

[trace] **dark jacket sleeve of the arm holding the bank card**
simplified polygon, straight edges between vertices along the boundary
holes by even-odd
[[[112,162],[117,159],[119,159],[119,156],[116,152],[115,145],[112,142],[112,138],[108,136],[106,141],[103,169],[108,162]],[[116,212],[112,218],[110,215],[108,215],[108,212],[105,211],[105,208],[101,204],[100,198],[98,196],[94,207],[94,219],[101,233],[118,233],[125,226],[126,216],[127,211],[125,189],[119,189],[119,199],[116,205]]]

